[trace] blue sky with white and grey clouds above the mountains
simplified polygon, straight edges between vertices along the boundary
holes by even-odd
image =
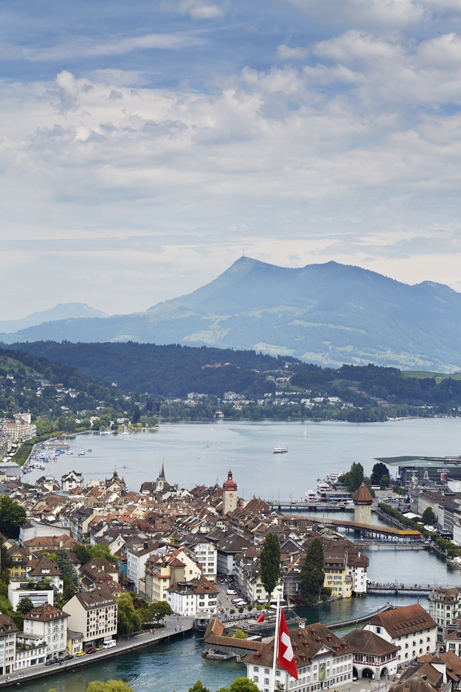
[[[460,0],[0,0],[0,319],[242,254],[461,291]]]

